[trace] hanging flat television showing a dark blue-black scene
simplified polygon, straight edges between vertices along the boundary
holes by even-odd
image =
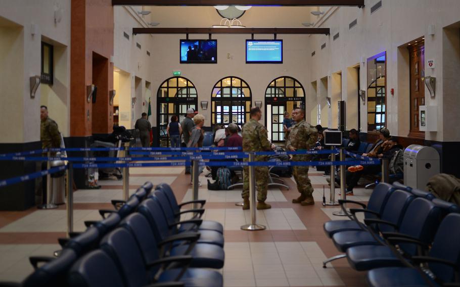
[[[180,63],[217,63],[217,40],[180,40]]]

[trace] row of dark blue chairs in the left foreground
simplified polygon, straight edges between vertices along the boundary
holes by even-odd
[[[35,271],[21,283],[0,286],[222,286],[211,269],[224,264],[223,226],[201,217],[206,201],[178,204],[167,184],[147,182],[100,221],[61,239],[57,257],[30,257]],[[181,211],[196,204],[198,208]],[[191,214],[188,220],[181,216]]]

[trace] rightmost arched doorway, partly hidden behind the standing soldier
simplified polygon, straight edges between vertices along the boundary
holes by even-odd
[[[285,141],[284,113],[294,108],[305,108],[305,89],[300,82],[287,76],[271,81],[265,90],[265,123],[272,142]]]

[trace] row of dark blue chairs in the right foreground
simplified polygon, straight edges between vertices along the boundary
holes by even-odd
[[[349,220],[326,234],[371,286],[460,286],[460,207],[395,182],[380,183],[367,205],[340,200]],[[360,208],[346,210],[345,205]],[[364,223],[356,214],[364,214]]]

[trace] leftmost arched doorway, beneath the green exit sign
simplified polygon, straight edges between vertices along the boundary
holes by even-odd
[[[165,80],[157,92],[157,127],[160,147],[169,147],[166,127],[172,115],[185,118],[187,109],[197,110],[198,94],[195,85],[187,78],[171,77]]]

